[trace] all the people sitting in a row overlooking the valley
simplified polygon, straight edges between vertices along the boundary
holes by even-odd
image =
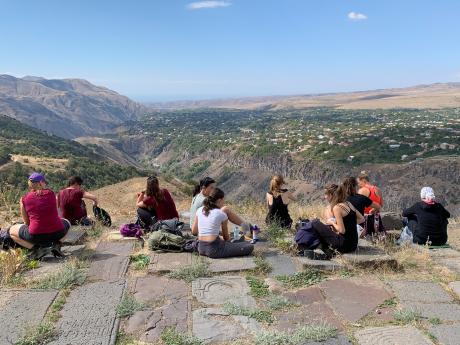
[[[30,191],[20,200],[23,223],[9,229],[11,239],[29,249],[51,243],[55,246],[52,250],[59,252],[59,243],[65,239],[71,225],[93,225],[87,215],[84,199],[92,201],[94,205],[98,200],[95,195],[85,191],[82,184],[80,177],[71,177],[68,186],[56,197],[47,187],[44,175],[30,175]],[[288,205],[296,198],[285,187],[282,176],[273,176],[266,194],[266,223],[291,228],[293,221]],[[365,172],[357,178],[347,177],[339,185],[328,185],[324,197],[328,204],[324,210],[324,220],[311,221],[310,230],[318,240],[316,246],[328,257],[335,252],[356,250],[360,236],[384,235],[380,217],[383,196],[380,189],[370,183]],[[149,177],[145,191],[138,193],[136,206],[138,219],[144,228],[157,221],[179,218],[171,194],[166,188],[160,187],[155,176]],[[443,245],[447,242],[447,219],[450,214],[435,201],[432,188],[424,187],[421,201],[404,210],[403,216],[407,218],[414,243]],[[229,223],[239,227],[233,236],[230,236]],[[210,177],[203,178],[194,190],[190,227],[192,234],[198,238],[200,255],[211,258],[250,255],[259,240],[259,229],[226,205],[225,193],[217,188],[216,181]],[[251,240],[245,241],[245,235],[250,235]]]

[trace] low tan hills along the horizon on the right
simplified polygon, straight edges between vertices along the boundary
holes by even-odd
[[[437,83],[407,88],[344,93],[266,96],[150,104],[155,109],[234,108],[301,109],[334,107],[340,109],[454,108],[460,107],[460,83]]]

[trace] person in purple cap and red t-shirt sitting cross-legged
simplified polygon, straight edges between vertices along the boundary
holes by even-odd
[[[45,177],[37,172],[29,176],[30,191],[21,198],[20,209],[24,224],[10,228],[14,242],[28,249],[40,251],[42,246],[54,244],[53,251],[60,251],[57,244],[63,241],[70,228],[70,222],[59,218],[56,195],[46,188]],[[42,255],[37,254],[38,258]]]

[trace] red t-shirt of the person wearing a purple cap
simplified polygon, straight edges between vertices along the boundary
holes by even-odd
[[[27,193],[22,204],[29,216],[30,234],[50,234],[64,229],[58,215],[56,195],[51,189]]]

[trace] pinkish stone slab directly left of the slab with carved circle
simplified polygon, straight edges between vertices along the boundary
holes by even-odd
[[[184,281],[151,275],[136,278],[133,285],[134,297],[146,303],[184,299],[190,289]]]

